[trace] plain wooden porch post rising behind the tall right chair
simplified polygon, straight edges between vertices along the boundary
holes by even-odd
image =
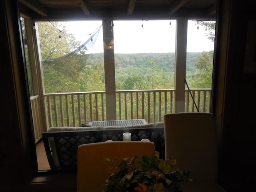
[[[185,111],[185,78],[187,57],[188,20],[178,18],[176,22],[176,55],[175,55],[175,106],[174,112]]]

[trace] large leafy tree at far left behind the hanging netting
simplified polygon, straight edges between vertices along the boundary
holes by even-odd
[[[44,87],[46,93],[80,91],[83,62],[88,57],[86,47],[74,54],[79,47],[73,35],[66,34],[63,22],[38,22]],[[60,37],[61,38],[60,38]]]

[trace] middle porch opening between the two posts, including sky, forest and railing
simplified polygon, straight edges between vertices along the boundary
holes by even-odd
[[[176,20],[114,20],[118,119],[155,122],[173,112],[175,37]]]

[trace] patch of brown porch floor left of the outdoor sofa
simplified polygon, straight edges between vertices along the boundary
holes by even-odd
[[[49,170],[50,165],[47,160],[47,156],[44,150],[44,142],[42,140],[36,143],[36,156],[37,156],[38,170]]]

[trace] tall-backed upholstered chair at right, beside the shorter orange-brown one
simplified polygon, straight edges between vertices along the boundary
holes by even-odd
[[[214,115],[184,112],[164,115],[165,158],[190,170],[185,192],[225,192],[217,183],[218,150]]]

